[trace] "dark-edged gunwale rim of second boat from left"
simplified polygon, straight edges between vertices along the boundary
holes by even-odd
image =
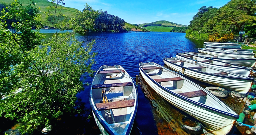
[[[151,63],[151,62],[150,62]],[[143,63],[144,64],[144,63]],[[159,66],[159,67],[162,67],[162,66],[160,66],[160,65],[158,65],[158,64],[156,64],[156,63],[154,63],[155,65],[157,65],[157,66]],[[202,104],[202,103],[200,103],[200,102],[196,102],[196,101],[193,101],[193,100],[191,100],[191,99],[189,99],[189,98],[187,98],[187,97],[184,97],[184,96],[182,96],[182,95],[178,95],[178,94],[176,94],[176,93],[174,93],[174,92],[172,92],[172,91],[170,91],[170,90],[168,90],[167,88],[165,88],[165,87],[163,87],[162,85],[160,85],[158,82],[156,82],[154,79],[152,79],[149,75],[147,75],[146,74],[146,72],[142,69],[142,67],[140,66],[140,63],[139,63],[139,68],[140,68],[140,70],[153,82],[153,83],[155,83],[157,86],[159,86],[161,89],[163,89],[165,92],[167,92],[167,93],[169,93],[169,94],[171,94],[171,95],[174,95],[174,96],[176,96],[176,97],[178,97],[178,98],[180,98],[180,99],[182,99],[182,100],[185,100],[185,101],[187,101],[187,102],[189,102],[189,103],[191,103],[191,104],[193,104],[193,105],[196,105],[196,106],[198,106],[198,107],[200,107],[200,108],[206,108],[206,109],[209,109],[209,110],[211,110],[211,111],[216,111],[216,112],[218,112],[218,113],[220,113],[220,114],[224,114],[224,115],[227,115],[227,116],[230,116],[230,117],[233,117],[233,118],[235,118],[235,119],[238,119],[239,118],[239,116],[238,115],[234,115],[234,114],[231,114],[231,113],[228,113],[228,112],[224,112],[224,111],[222,111],[222,110],[219,110],[219,109],[215,109],[215,108],[213,108],[213,107],[210,107],[210,106],[207,106],[207,105],[204,105],[204,104]],[[166,69],[166,68],[165,68]],[[169,69],[166,69],[167,71],[170,71],[170,72],[174,72],[174,71],[171,71],[171,70],[169,70]],[[175,72],[174,72],[175,73]],[[193,83],[192,81],[190,81],[189,79],[187,79],[187,78],[185,78],[185,77],[183,77],[183,79],[184,80],[186,80],[186,81],[188,81],[189,83],[192,83],[193,85],[196,85],[195,83]],[[196,85],[197,86],[197,85]],[[198,87],[198,86],[197,86]],[[201,86],[199,86],[199,87],[201,87]],[[203,89],[203,88],[202,88]],[[206,90],[205,90],[206,91]],[[211,96],[212,96],[212,98],[215,98],[215,96],[214,95],[212,95],[211,93],[207,93],[207,95],[208,94],[210,94]],[[217,97],[216,97],[217,98]],[[222,101],[220,101],[221,103],[223,103]],[[224,104],[224,103],[223,103]],[[225,105],[225,104],[224,104]],[[227,105],[226,105],[226,107],[228,107]],[[229,108],[229,107],[228,107]],[[230,109],[230,108],[229,108]],[[230,109],[230,110],[232,110],[232,109]],[[233,110],[232,110],[233,111]],[[234,112],[234,111],[233,111]]]

